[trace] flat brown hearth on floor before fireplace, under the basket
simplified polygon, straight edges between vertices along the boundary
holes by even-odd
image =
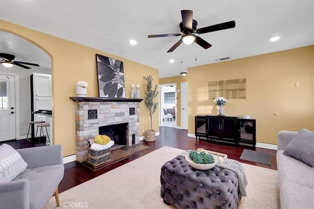
[[[83,162],[85,166],[90,168],[91,170],[99,170],[101,168],[104,168],[112,163],[116,163],[120,160],[123,160],[125,158],[128,158],[132,155],[135,155],[136,153],[139,153],[145,149],[149,148],[149,146],[143,145],[143,144],[134,144],[132,146],[125,146],[119,149],[114,149],[110,151],[110,161],[98,166],[93,166],[87,162]]]

